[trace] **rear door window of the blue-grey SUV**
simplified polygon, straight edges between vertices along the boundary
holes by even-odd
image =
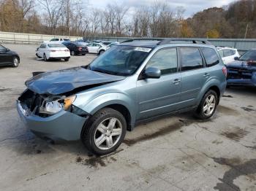
[[[183,47],[181,50],[181,70],[188,71],[203,68],[203,59],[196,47]]]

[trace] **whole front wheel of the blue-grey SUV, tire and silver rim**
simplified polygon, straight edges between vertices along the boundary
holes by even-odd
[[[81,134],[81,140],[90,152],[107,155],[120,146],[126,130],[127,122],[124,116],[114,109],[105,108],[89,119]],[[115,136],[113,136],[114,132]]]

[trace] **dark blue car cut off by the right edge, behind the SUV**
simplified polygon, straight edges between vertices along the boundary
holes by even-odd
[[[227,85],[256,87],[256,49],[248,50],[227,65]]]

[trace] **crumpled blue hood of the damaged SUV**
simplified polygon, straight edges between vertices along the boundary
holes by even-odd
[[[25,85],[35,93],[58,95],[75,90],[78,87],[116,82],[124,78],[75,67],[38,74],[27,80]]]

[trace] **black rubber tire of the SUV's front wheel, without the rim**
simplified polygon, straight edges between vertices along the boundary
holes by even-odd
[[[87,136],[89,136],[89,137],[88,137],[87,140],[83,140],[83,142],[87,141],[87,142],[84,142],[84,144],[86,144],[87,149],[89,149],[91,152],[94,152],[94,154],[96,154],[96,155],[108,155],[109,153],[114,152],[120,146],[122,141],[124,140],[126,130],[127,130],[127,122],[124,119],[124,116],[120,112],[118,112],[114,109],[108,109],[107,108],[107,109],[102,109],[99,112],[105,112],[105,114],[101,114],[96,119],[92,119],[93,121],[89,122],[88,125],[86,125],[86,127],[85,127],[86,129],[84,130],[84,133],[86,133]],[[97,116],[97,114],[95,114],[95,115]],[[121,125],[122,125],[121,137],[118,140],[118,143],[114,147],[112,147],[110,149],[106,149],[106,150],[99,149],[94,143],[94,133],[97,130],[97,126],[103,120],[108,119],[110,117],[116,117],[121,122]],[[94,117],[92,117],[92,118],[94,118]]]

